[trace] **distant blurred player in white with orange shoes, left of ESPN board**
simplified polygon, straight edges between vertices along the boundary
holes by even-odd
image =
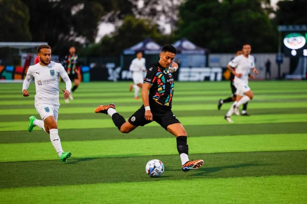
[[[144,71],[146,71],[145,58],[143,58],[142,52],[136,54],[136,58],[132,60],[129,70],[132,71],[132,77],[134,84],[130,84],[129,91],[134,88],[134,98],[139,99],[138,93],[143,87]]]

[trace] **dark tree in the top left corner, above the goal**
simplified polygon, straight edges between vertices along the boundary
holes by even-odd
[[[6,42],[31,40],[29,10],[20,0],[0,0],[0,39]]]

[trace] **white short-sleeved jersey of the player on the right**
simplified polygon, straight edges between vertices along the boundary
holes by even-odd
[[[251,69],[255,68],[255,59],[252,55],[248,55],[248,58],[244,57],[244,55],[236,56],[235,59],[231,60],[228,65],[235,68],[235,72],[238,74],[242,74],[242,77],[235,77],[236,81],[243,81],[248,84],[248,74]]]

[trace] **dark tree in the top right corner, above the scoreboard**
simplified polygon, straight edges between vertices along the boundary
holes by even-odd
[[[307,1],[293,0],[277,3],[275,21],[278,25],[306,25]]]

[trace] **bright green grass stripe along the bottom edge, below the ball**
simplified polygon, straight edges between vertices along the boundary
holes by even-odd
[[[152,180],[159,181],[152,185]],[[21,187],[0,190],[2,203],[305,203],[307,176],[266,176],[217,179]],[[149,191],[151,186],[155,190]],[[65,196],[60,195],[65,189]],[[156,190],[157,189],[157,190]],[[162,190],[163,189],[163,190]],[[174,189],[180,194],[174,194]],[[120,192],[120,193],[119,193]],[[204,193],[205,192],[205,193]],[[148,194],[150,198],[148,199]],[[119,196],[120,195],[120,196]]]

